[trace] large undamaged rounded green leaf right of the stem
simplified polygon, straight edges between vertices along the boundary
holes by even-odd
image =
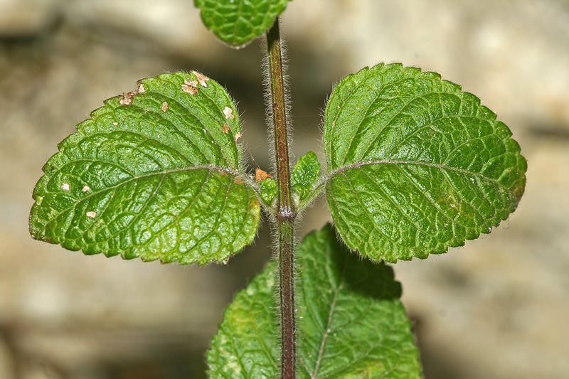
[[[324,115],[326,194],[371,260],[446,252],[513,212],[526,160],[496,114],[436,73],[396,63],[339,82]]]

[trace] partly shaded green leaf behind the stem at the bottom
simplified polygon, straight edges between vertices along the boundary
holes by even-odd
[[[297,247],[297,378],[420,378],[393,270],[362,261],[327,225]],[[239,292],[208,351],[211,378],[277,378],[275,264]]]

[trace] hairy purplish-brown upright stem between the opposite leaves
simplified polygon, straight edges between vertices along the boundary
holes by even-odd
[[[267,33],[273,139],[277,169],[279,246],[279,295],[281,319],[281,378],[292,379],[296,364],[296,326],[294,318],[294,205],[290,188],[289,139],[285,80],[283,78],[279,19]]]

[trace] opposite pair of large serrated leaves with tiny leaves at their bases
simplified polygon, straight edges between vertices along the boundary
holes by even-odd
[[[85,254],[201,265],[252,242],[276,186],[245,172],[238,112],[217,82],[162,74],[91,117],[43,168],[33,237]],[[326,106],[326,174],[318,178],[312,152],[294,166],[297,210],[325,186],[339,235],[361,255],[395,262],[445,252],[516,208],[526,161],[510,137],[477,97],[437,74],[364,68]]]

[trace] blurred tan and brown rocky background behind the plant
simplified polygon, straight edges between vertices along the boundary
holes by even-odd
[[[334,82],[399,61],[481,97],[528,159],[491,235],[395,265],[425,378],[569,378],[568,1],[294,0],[283,21],[297,156],[324,161]],[[163,71],[225,85],[268,170],[261,59],[258,42],[219,43],[191,0],[0,0],[0,378],[203,378],[225,304],[271,256],[268,225],[223,267],[85,257],[31,240],[31,192],[75,124]],[[327,220],[320,201],[302,233]]]

